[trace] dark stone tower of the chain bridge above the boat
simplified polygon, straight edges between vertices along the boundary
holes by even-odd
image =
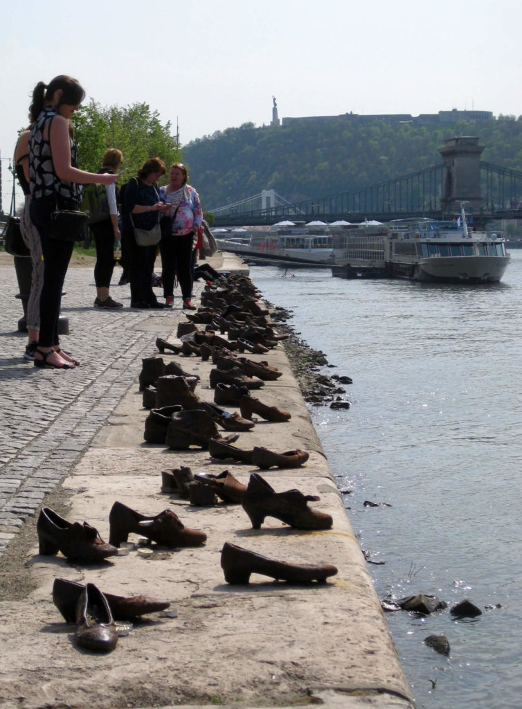
[[[450,138],[439,148],[443,156],[443,213],[450,216],[460,212],[460,203],[466,202],[466,211],[479,213],[482,207],[480,189],[480,154],[484,145],[478,138]]]

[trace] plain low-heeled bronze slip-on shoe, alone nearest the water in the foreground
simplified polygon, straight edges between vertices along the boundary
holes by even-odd
[[[293,581],[295,584],[324,582],[335,576],[337,568],[332,564],[289,564],[268,559],[262,554],[225,542],[221,549],[221,568],[227,584],[248,584],[250,574],[270,576],[276,581]]]

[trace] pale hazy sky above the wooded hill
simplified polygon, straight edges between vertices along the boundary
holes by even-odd
[[[145,101],[182,143],[284,116],[522,114],[520,0],[0,0],[0,152],[35,84]]]

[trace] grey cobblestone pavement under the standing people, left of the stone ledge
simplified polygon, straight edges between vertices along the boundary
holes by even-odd
[[[120,274],[115,269],[113,283]],[[194,295],[201,288],[196,281]],[[15,269],[0,266],[0,556],[87,450],[137,379],[140,358],[156,352],[156,337],[168,337],[184,319],[181,298],[174,298],[173,310],[130,310],[129,286],[111,287],[123,309],[94,308],[91,267],[70,268],[64,292],[70,334],[60,337],[61,345],[82,365],[37,369],[22,357],[27,334],[17,331],[23,311]],[[161,289],[155,292],[162,296]]]

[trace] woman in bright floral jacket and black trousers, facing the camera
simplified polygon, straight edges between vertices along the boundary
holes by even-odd
[[[167,218],[172,228],[162,235],[160,253],[165,304],[174,304],[174,274],[182,289],[183,308],[196,310],[192,295],[192,250],[194,237],[203,221],[199,195],[188,183],[189,174],[182,162],[174,162],[169,172],[169,184],[160,187],[162,197],[170,204]]]

